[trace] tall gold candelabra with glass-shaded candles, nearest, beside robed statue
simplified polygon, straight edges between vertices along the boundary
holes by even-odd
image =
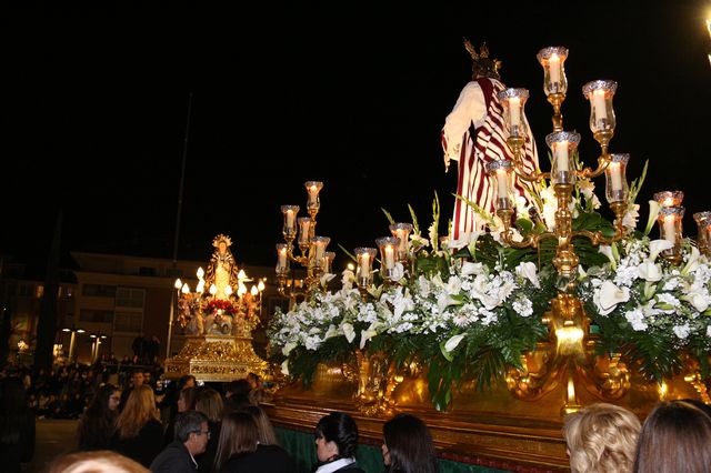
[[[495,161],[488,165],[490,179],[495,189],[497,214],[501,218],[504,231],[503,241],[513,248],[538,248],[544,239],[557,241],[552,263],[562,284],[559,294],[551,301],[551,310],[543,316],[550,328],[549,343],[521,360],[521,369],[512,369],[507,382],[510,391],[519,399],[534,400],[550,392],[561,381],[567,385],[564,412],[579,409],[575,385],[582,383],[589,391],[602,399],[618,399],[629,388],[629,372],[620,362],[619,354],[608,360],[599,360],[589,343],[589,321],[581,301],[572,290],[578,275],[579,258],[575,254],[573,239],[585,238],[592,245],[611,244],[624,235],[622,219],[628,208],[629,188],[625,178],[628,154],[611,154],[609,144],[614,134],[615,115],[612,99],[617,83],[610,80],[595,80],[582,88],[583,95],[590,102],[590,130],[600,144],[598,165],[578,169],[574,153],[580,143],[580,134],[563,130],[561,105],[568,92],[564,62],[565,48],[542,49],[538,60],[543,67],[543,89],[553,107],[553,132],[545,137],[551,150],[551,171],[528,172],[523,165],[523,147],[528,128],[525,125],[524,104],[529,97],[525,89],[507,89],[499,93],[504,111],[504,125],[508,131],[507,143],[511,148],[513,161]],[[512,199],[512,177],[539,183],[550,181],[558,209],[554,228],[541,233],[530,233],[522,241],[515,241],[511,221],[514,213]],[[578,179],[592,179],[605,175],[605,198],[614,213],[614,234],[605,236],[601,231],[573,230],[573,214],[570,210],[572,192]]]

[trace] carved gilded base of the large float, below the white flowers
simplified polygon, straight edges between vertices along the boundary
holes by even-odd
[[[350,413],[367,443],[382,442],[382,424],[398,412],[410,412],[427,422],[442,457],[504,471],[568,471],[562,436],[562,406],[570,403],[567,371],[561,380],[534,399],[523,400],[501,384],[479,391],[473,383],[453,393],[452,409],[434,410],[424,371],[397,374],[378,356],[352,366],[319,365],[310,389],[300,381],[282,385],[267,405],[274,424],[311,430],[332,411]],[[599,361],[600,363],[609,363]],[[630,372],[630,385],[613,402],[644,419],[660,400],[700,397],[694,366],[658,385]],[[705,392],[704,392],[705,393]],[[578,390],[581,405],[602,402],[592,390]]]

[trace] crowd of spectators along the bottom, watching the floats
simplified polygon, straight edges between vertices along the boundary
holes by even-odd
[[[198,383],[192,375],[164,385],[157,382],[159,373],[137,366],[126,385],[107,381],[118,379],[111,374],[118,373],[101,364],[34,376],[29,370],[2,370],[3,471],[21,472],[32,457],[34,419],[47,414],[38,409],[43,395],[79,400],[64,411],[79,420],[76,449],[57,459],[51,473],[297,471],[294,452],[280,445],[260,404],[267,394],[257,374],[220,386]],[[619,405],[591,404],[569,414],[562,433],[573,473],[711,471],[711,406],[698,400],[660,402],[643,423]],[[321,417],[314,442],[313,473],[364,472],[356,460],[358,425],[348,413]],[[430,430],[412,414],[383,423],[381,451],[387,473],[440,467]]]

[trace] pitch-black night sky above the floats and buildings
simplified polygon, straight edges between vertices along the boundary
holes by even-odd
[[[610,150],[631,154],[630,181],[650,162],[641,224],[660,190],[684,191],[688,234],[711,210],[708,1],[143,3],[3,8],[0,252],[43,263],[61,209],[66,261],[172,258],[190,92],[178,259],[207,260],[227,233],[238,261],[273,264],[279,208],[303,209],[308,180],[324,182],[317,233],[337,266],[339,243],[389,234],[381,208],[409,221],[411,204],[427,228],[437,192],[443,233],[455,168],[439,135],[470,79],[462,37],[529,89],[543,170],[552,108],[535,54],[562,46],[563,124],[585,163],[600,149],[581,88],[615,80]]]

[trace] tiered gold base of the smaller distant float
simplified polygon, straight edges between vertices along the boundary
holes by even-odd
[[[198,381],[232,381],[250,372],[264,376],[268,369],[254,353],[251,336],[188,335],[180,353],[166,360],[163,378],[192,374]]]

